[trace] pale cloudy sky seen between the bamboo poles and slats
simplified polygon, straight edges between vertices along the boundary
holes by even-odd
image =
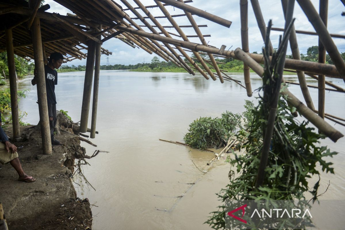
[[[122,4],[120,0],[116,0],[122,8],[127,8]],[[133,6],[137,6],[132,0],[128,0]],[[141,2],[145,6],[155,5],[153,0],[141,0]],[[312,0],[315,9],[318,11],[319,5],[318,0]],[[46,0],[46,4],[50,4],[50,9],[48,12],[56,12],[62,15],[66,15],[67,12],[70,12],[66,8],[62,7],[58,3],[54,2],[53,0]],[[274,1],[263,1],[259,0],[260,7],[264,16],[265,23],[267,24],[269,19],[273,21],[273,27],[284,28],[284,16],[282,5],[279,0]],[[215,14],[219,17],[225,18],[227,20],[232,21],[230,28],[220,26],[214,22],[208,21],[207,19],[194,16],[195,21],[197,24],[207,24],[208,27],[201,27],[201,32],[203,34],[210,34],[211,37],[205,37],[205,40],[209,42],[210,45],[219,48],[221,45],[226,45],[226,49],[236,49],[237,47],[241,47],[241,36],[240,36],[240,12],[239,12],[239,0],[194,0],[192,3],[188,3],[191,6],[196,8],[206,10],[209,13]],[[171,6],[166,7],[170,14],[182,14],[183,11]],[[328,6],[328,31],[330,33],[336,34],[345,34],[345,16],[341,16],[341,13],[345,11],[345,7],[339,0],[329,0]],[[134,17],[130,11],[126,11],[130,17]],[[141,15],[144,15],[142,11],[139,11]],[[163,13],[158,8],[151,8],[150,12],[154,16],[163,16]],[[295,29],[296,30],[306,30],[306,31],[313,31],[315,32],[313,26],[306,18],[305,14],[303,13],[302,9],[299,7],[298,3],[295,2],[295,9],[294,9],[294,17],[295,20]],[[186,17],[175,17],[176,22],[180,25],[190,25],[188,19]],[[167,19],[158,19],[159,22],[165,26],[169,25]],[[143,23],[139,20],[135,20],[135,22],[139,25]],[[151,23],[151,21],[149,20]],[[153,23],[151,23],[153,25]],[[145,27],[143,27],[145,29]],[[183,28],[186,35],[195,35],[193,28]],[[149,32],[148,30],[146,30]],[[177,33],[174,29],[167,28],[168,32]],[[260,31],[257,26],[256,19],[254,17],[254,12],[252,5],[250,4],[250,0],[248,0],[248,31],[249,31],[249,51],[258,51],[260,52],[263,46],[263,40],[260,34]],[[273,44],[273,47],[278,46],[278,38],[279,34],[282,32],[272,31],[270,38]],[[175,36],[172,36],[175,39],[181,39]],[[191,42],[200,43],[198,38],[189,38]],[[307,48],[310,46],[317,46],[318,39],[317,36],[312,35],[304,35],[304,34],[297,34],[297,41],[299,45],[299,50],[301,53],[306,53]],[[339,52],[345,52],[345,39],[341,38],[334,38],[334,42],[338,47]],[[101,56],[101,64],[106,64],[107,57],[109,57],[110,64],[136,64],[139,62],[150,62],[151,59],[154,57],[155,54],[149,54],[142,49],[132,48],[127,44],[123,43],[118,39],[110,39],[103,43],[102,47],[108,49],[113,54],[111,56],[102,55]],[[231,48],[230,48],[231,47]],[[288,49],[287,53],[291,53]],[[74,60],[72,62],[67,63],[68,65],[74,64],[77,65],[85,65],[86,60]]]

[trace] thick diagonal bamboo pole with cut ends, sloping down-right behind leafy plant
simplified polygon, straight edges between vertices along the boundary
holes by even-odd
[[[252,68],[260,77],[264,74],[264,68],[260,66],[254,59],[252,59],[247,53],[245,53],[240,48],[236,49],[239,57],[243,62],[246,62],[250,68]],[[313,123],[319,130],[321,130],[327,137],[332,141],[336,142],[339,138],[344,137],[344,135],[329,125],[325,120],[319,117],[311,109],[306,107],[303,102],[298,100],[288,89],[281,92],[283,95],[287,96],[286,100],[296,107],[297,111],[302,114],[308,121]]]

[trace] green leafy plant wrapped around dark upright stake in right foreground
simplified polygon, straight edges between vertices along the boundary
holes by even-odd
[[[269,23],[268,34],[270,25]],[[217,211],[211,212],[212,216],[206,221],[211,228],[226,228],[225,215],[228,208],[226,202],[231,203],[235,200],[300,200],[304,205],[307,205],[307,192],[312,194],[313,201],[317,200],[320,170],[334,173],[334,169],[331,167],[332,163],[326,162],[324,158],[332,157],[337,153],[319,145],[319,140],[324,139],[325,136],[309,127],[308,121],[299,122],[292,115],[296,108],[290,107],[282,94],[279,93],[279,78],[281,79],[282,76],[277,72],[277,69],[281,68],[280,70],[282,70],[284,63],[279,62],[279,59],[282,58],[282,55],[279,54],[283,53],[281,49],[284,49],[282,47],[286,42],[287,38],[284,37],[272,60],[268,58],[268,42],[266,43],[263,86],[259,88],[260,94],[263,96],[259,98],[258,106],[254,109],[246,104],[247,110],[251,111],[253,117],[248,117],[249,114],[246,113],[248,122],[246,128],[239,129],[236,133],[237,140],[243,143],[242,148],[245,149],[245,153],[235,154],[235,159],[230,160],[229,184],[217,194],[223,204],[218,207]],[[275,104],[277,101],[278,106]],[[270,119],[272,118],[270,111],[273,110],[274,112],[276,107],[275,119]],[[269,121],[273,121],[273,136],[266,139],[265,134],[270,131]],[[263,161],[265,146],[269,147],[267,163]],[[317,167],[318,164],[321,165],[321,169]],[[260,166],[264,168],[260,168]],[[263,182],[258,183],[258,174],[261,172],[264,172]],[[313,186],[309,186],[308,179],[313,176],[318,176],[319,180]],[[293,219],[291,220],[293,221]],[[246,229],[257,229],[250,221],[245,226]],[[265,222],[257,224],[259,224],[259,229],[268,229]],[[289,226],[288,229],[295,227],[295,224],[290,221],[284,224],[290,224],[285,225]],[[297,228],[305,229],[309,222],[300,222],[300,224]],[[231,227],[237,228],[238,226]]]

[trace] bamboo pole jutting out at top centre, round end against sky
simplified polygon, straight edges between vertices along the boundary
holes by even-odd
[[[182,2],[179,2],[179,1],[175,1],[175,0],[159,0],[160,2],[164,2],[166,4],[169,4],[170,6],[174,6],[176,8],[179,8],[181,10],[184,10],[184,11],[187,11],[187,12],[190,12],[190,13],[193,13],[199,17],[202,17],[202,18],[206,18],[210,21],[213,21],[217,24],[220,24],[222,26],[225,26],[225,27],[228,27],[230,28],[231,26],[231,21],[228,21],[226,19],[223,19],[223,18],[220,18],[214,14],[210,14],[204,10],[199,10],[195,7],[192,7],[192,6],[189,6],[185,3],[182,3]]]

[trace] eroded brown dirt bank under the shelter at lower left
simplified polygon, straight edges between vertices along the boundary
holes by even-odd
[[[4,130],[9,137],[12,136],[11,126]],[[63,145],[53,146],[53,154],[43,155],[39,128],[21,128],[24,139],[29,133],[29,140],[11,142],[17,147],[23,146],[18,149],[22,167],[37,180],[33,183],[18,181],[18,174],[10,164],[0,169],[0,202],[8,229],[91,229],[90,204],[87,199],[82,201],[77,198],[70,179],[74,159],[85,154],[79,137],[61,131],[56,138]]]

